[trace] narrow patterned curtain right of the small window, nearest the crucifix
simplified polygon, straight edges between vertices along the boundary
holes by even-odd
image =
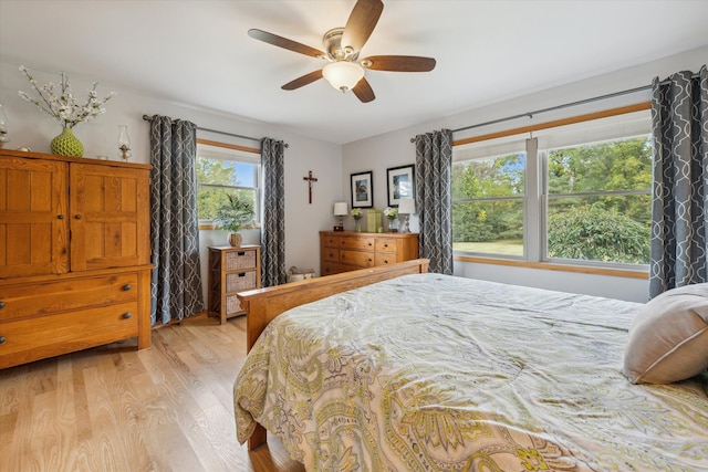
[[[261,286],[285,283],[285,165],[283,141],[261,140],[263,219],[261,224]]]

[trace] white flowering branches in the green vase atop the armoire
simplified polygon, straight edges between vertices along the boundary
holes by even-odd
[[[88,122],[98,115],[106,113],[103,105],[115,96],[115,92],[111,92],[103,99],[98,99],[96,93],[97,82],[93,83],[93,88],[88,91],[88,97],[84,105],[80,105],[73,96],[71,91],[71,83],[69,77],[62,72],[61,91],[59,95],[55,92],[56,85],[52,82],[38,86],[34,77],[30,74],[30,71],[24,66],[20,66],[20,71],[27,75],[27,78],[32,84],[32,88],[40,95],[41,101],[32,98],[27,93],[20,91],[20,96],[37,105],[42,112],[53,116],[65,128],[73,128],[81,122]]]

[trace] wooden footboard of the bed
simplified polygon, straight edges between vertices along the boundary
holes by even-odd
[[[238,297],[241,301],[241,308],[246,311],[247,349],[248,352],[251,350],[256,339],[273,318],[290,308],[388,279],[407,274],[421,274],[428,272],[429,262],[427,259],[414,259],[394,265],[379,265],[284,285],[240,292]],[[266,442],[266,429],[258,424],[248,440],[248,449],[258,448]]]

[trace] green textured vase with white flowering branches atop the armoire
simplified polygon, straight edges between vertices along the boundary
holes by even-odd
[[[24,66],[20,66],[20,72],[27,75],[32,88],[39,94],[40,98],[33,98],[27,93],[20,91],[20,96],[30,103],[33,103],[39,109],[50,116],[56,118],[62,125],[62,133],[52,139],[52,153],[63,156],[82,157],[84,155],[83,144],[74,136],[73,127],[82,122],[88,122],[98,115],[106,113],[103,105],[110,101],[115,93],[111,92],[103,99],[98,99],[96,92],[97,82],[94,82],[93,88],[88,91],[88,97],[84,104],[80,104],[74,98],[71,90],[69,77],[62,72],[62,82],[59,86],[52,82],[44,85],[38,85],[30,71]]]

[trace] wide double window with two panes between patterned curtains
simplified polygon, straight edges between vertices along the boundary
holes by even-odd
[[[649,130],[644,111],[456,146],[454,250],[647,264]]]

